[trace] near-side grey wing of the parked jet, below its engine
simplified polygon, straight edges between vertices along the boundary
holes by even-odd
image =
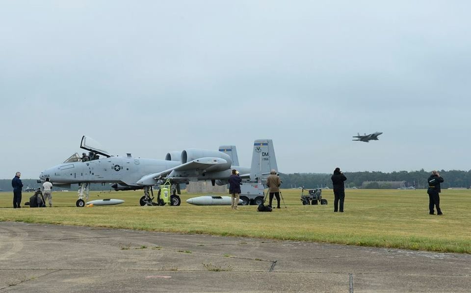
[[[137,184],[144,186],[156,185],[158,180],[165,179],[172,171],[202,170],[204,172],[212,166],[222,164],[227,164],[227,161],[223,158],[198,158],[162,172],[146,175],[139,179]]]

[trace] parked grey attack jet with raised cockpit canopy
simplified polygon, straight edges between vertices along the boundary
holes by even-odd
[[[180,183],[211,180],[212,185],[228,184],[232,169],[236,169],[243,180],[261,182],[266,180],[270,170],[278,171],[273,141],[257,139],[253,146],[252,164],[250,167],[239,166],[235,146],[221,146],[217,151],[186,149],[182,152],[167,153],[164,160],[150,158],[133,158],[111,156],[98,142],[91,137],[82,136],[80,148],[89,151],[88,156],[80,157],[75,153],[62,164],[46,169],[39,175],[38,182],[46,178],[53,185],[70,188],[78,184],[77,206],[85,205],[88,200],[90,183],[113,183],[118,190],[144,189],[141,205],[161,205],[163,200],[157,194],[154,203],[153,186],[159,186],[170,180],[172,192],[171,205],[180,205]],[[100,158],[100,156],[102,156]]]

